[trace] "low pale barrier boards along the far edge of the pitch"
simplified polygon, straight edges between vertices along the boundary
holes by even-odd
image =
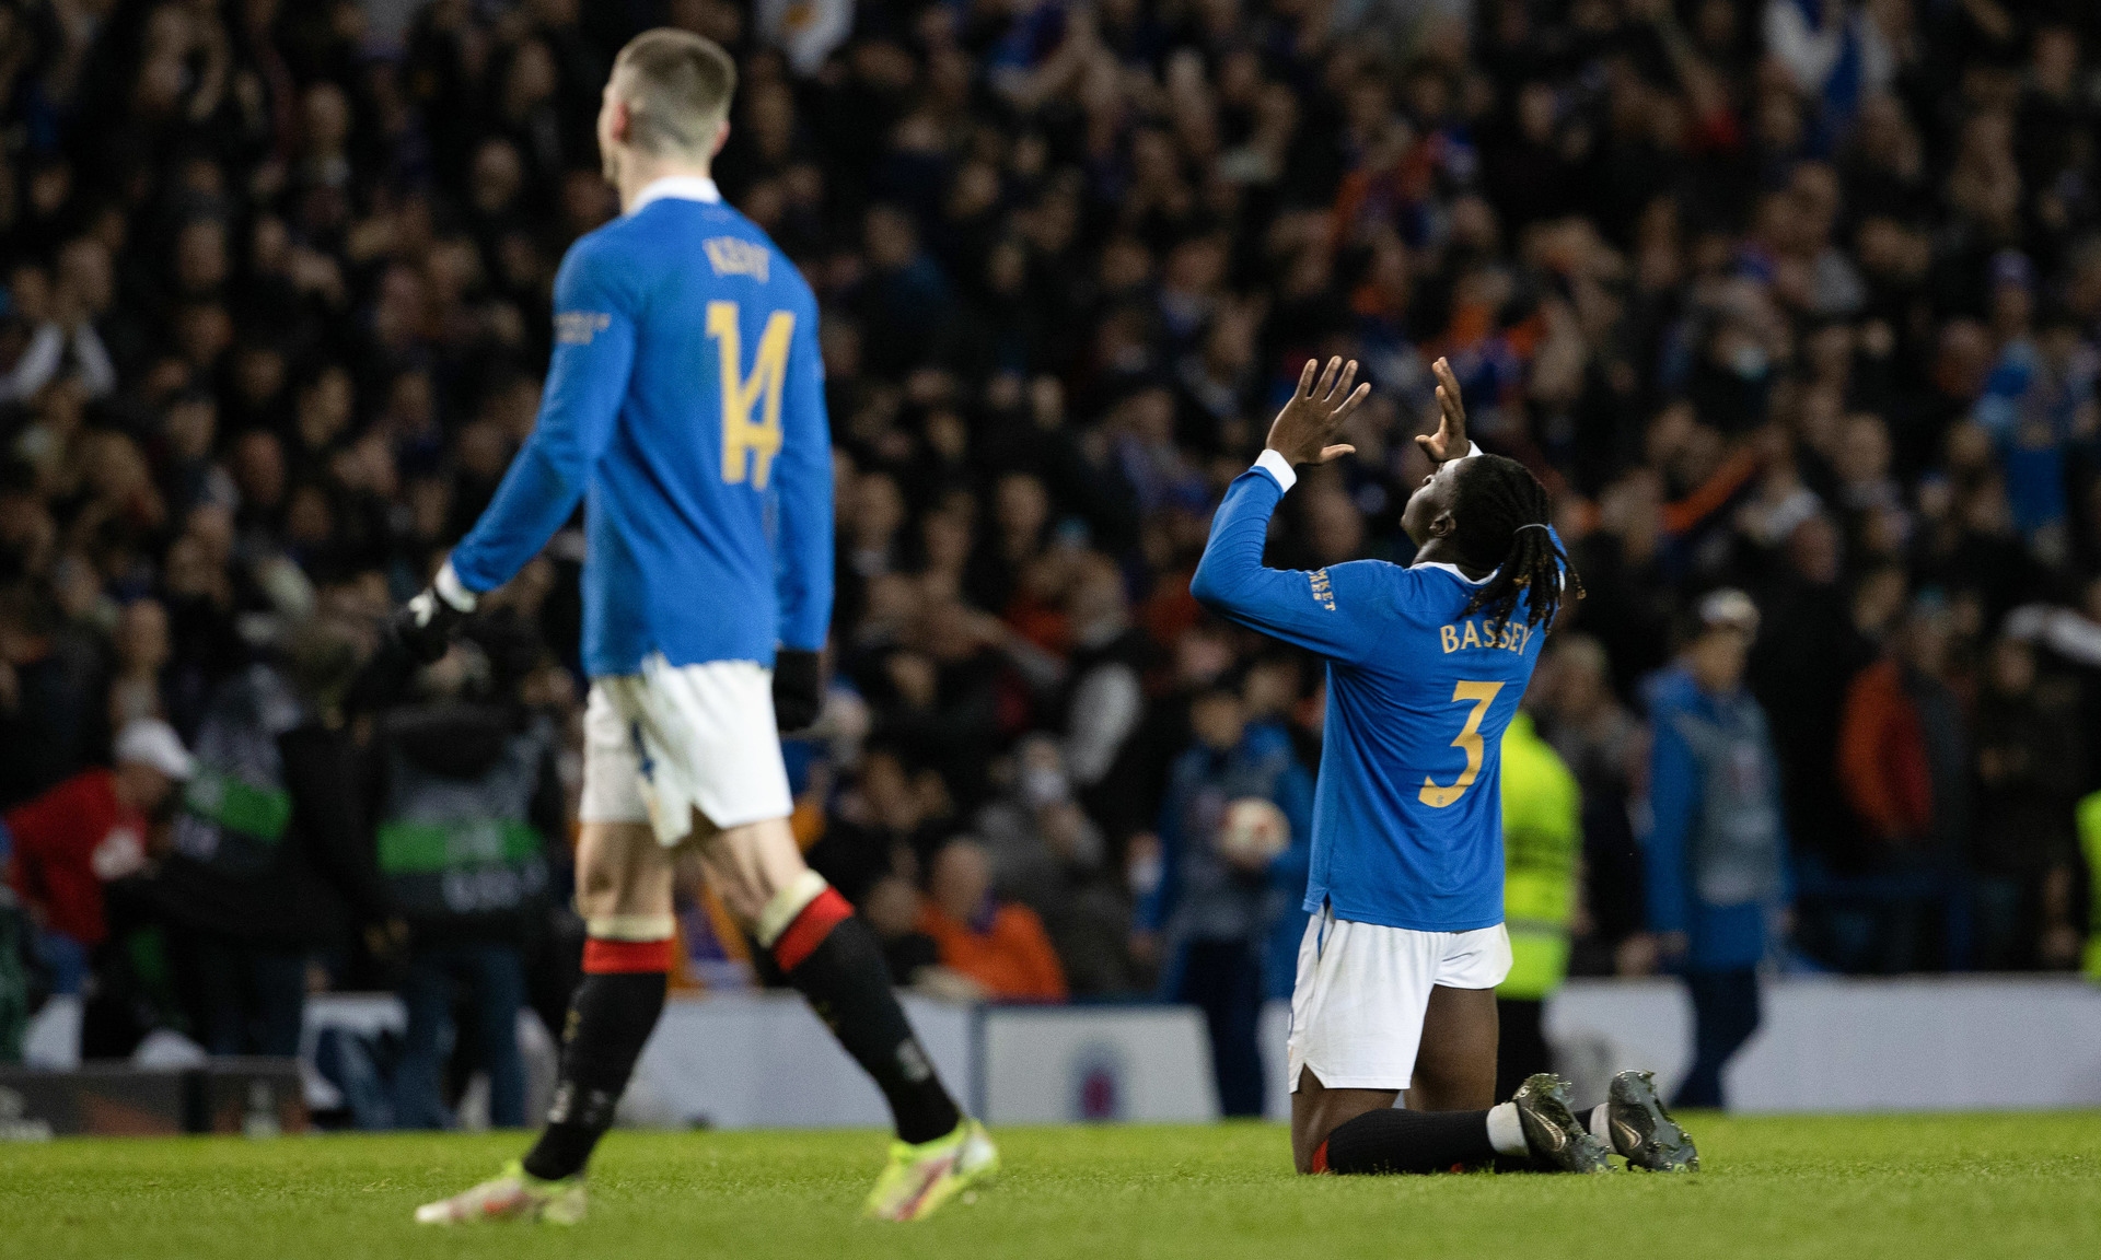
[[[1790,976],[1763,989],[1765,1023],[1725,1075],[1731,1109],[1969,1111],[2101,1107],[2101,989],[2072,976]],[[906,995],[929,1056],[992,1124],[1204,1121],[1219,1113],[1204,1021],[1181,1006],[956,1006]],[[324,1027],[399,1027],[389,995],[324,995]],[[32,1065],[71,1067],[78,1012],[53,1004]],[[532,1107],[553,1086],[553,1042],[525,1016]],[[1290,1113],[1290,1012],[1263,1012],[1267,1113]],[[1647,1067],[1668,1092],[1691,1054],[1691,1008],[1668,979],[1574,981],[1548,1002],[1557,1069],[1586,1105],[1614,1071]],[[307,1102],[334,1092],[307,1067]],[[674,998],[622,1102],[637,1126],[859,1128],[885,1124],[876,1088],[792,993]]]

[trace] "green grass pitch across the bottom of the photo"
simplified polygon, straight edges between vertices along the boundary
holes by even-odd
[[[61,1140],[0,1147],[0,1256],[2101,1254],[2101,1115],[1689,1128],[1708,1172],[1681,1178],[1296,1178],[1273,1126],[1004,1130],[1002,1182],[910,1226],[855,1218],[880,1134],[613,1134],[576,1231],[410,1224],[515,1155],[517,1134]]]

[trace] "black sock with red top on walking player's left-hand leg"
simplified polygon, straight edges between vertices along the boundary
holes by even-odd
[[[582,1172],[590,1149],[613,1124],[643,1042],[664,1014],[664,970],[668,941],[639,943],[653,947],[656,970],[590,970],[592,947],[620,951],[626,941],[586,941],[584,981],[569,1000],[569,1021],[561,1040],[561,1079],[555,1084],[555,1107],[532,1153],[525,1172],[561,1180]],[[605,949],[601,949],[603,953]]]

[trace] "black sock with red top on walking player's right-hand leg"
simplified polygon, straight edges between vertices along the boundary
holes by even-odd
[[[845,897],[824,888],[769,943],[782,974],[809,1000],[891,1102],[903,1142],[931,1142],[962,1121],[933,1060],[906,1023],[882,943]]]

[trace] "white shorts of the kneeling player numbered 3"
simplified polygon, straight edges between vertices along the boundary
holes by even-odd
[[[1324,907],[1298,943],[1290,1088],[1303,1069],[1330,1090],[1406,1090],[1431,989],[1494,989],[1511,974],[1511,934],[1414,932],[1334,918]]]

